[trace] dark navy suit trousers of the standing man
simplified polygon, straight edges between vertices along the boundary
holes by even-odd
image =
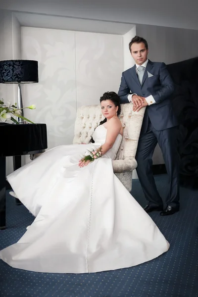
[[[168,194],[165,199],[167,205],[179,205],[179,154],[177,152],[177,127],[157,131],[148,121],[147,132],[140,135],[136,160],[137,174],[149,204],[163,206],[163,201],[157,191],[152,174],[152,155],[157,143],[162,150],[168,174]]]

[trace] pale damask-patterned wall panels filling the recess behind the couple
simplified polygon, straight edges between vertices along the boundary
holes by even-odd
[[[48,148],[72,144],[76,110],[117,92],[121,35],[22,27],[22,58],[39,61],[39,83],[23,86],[25,116],[48,127]]]

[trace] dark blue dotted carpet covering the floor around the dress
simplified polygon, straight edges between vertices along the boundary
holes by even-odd
[[[155,178],[163,198],[166,175]],[[145,199],[139,181],[133,196]],[[181,211],[168,217],[151,213],[170,243],[167,253],[128,269],[94,274],[49,274],[14,269],[0,260],[0,297],[198,297],[198,191],[181,188]],[[7,193],[7,226],[0,249],[24,234],[33,216]]]

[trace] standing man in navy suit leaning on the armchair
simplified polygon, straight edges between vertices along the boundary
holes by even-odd
[[[122,73],[118,95],[121,103],[133,103],[134,111],[146,107],[136,153],[138,177],[148,200],[144,209],[161,210],[160,215],[170,215],[179,211],[178,123],[170,98],[174,85],[164,63],[148,60],[148,43],[144,38],[135,36],[129,49],[135,65]],[[152,174],[152,155],[157,143],[169,179],[165,208]]]

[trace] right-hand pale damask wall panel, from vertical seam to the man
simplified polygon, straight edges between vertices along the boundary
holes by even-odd
[[[123,71],[122,36],[76,32],[77,107],[98,104],[106,91],[117,92]]]

